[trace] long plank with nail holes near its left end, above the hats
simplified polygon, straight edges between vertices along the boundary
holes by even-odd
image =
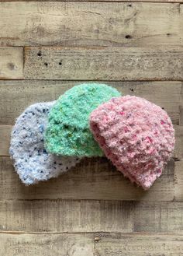
[[[183,47],[25,48],[25,79],[182,80],[182,70]]]

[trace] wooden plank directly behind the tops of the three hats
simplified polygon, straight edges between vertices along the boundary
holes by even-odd
[[[56,100],[81,81],[0,81],[0,124],[14,124],[16,117],[32,103]],[[161,107],[179,123],[181,82],[111,82],[123,95],[141,96]]]

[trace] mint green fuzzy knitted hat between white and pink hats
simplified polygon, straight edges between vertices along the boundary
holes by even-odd
[[[105,84],[84,83],[60,96],[50,110],[46,148],[63,156],[103,156],[89,129],[89,114],[120,93]]]

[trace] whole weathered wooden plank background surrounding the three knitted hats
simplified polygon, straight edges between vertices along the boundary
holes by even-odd
[[[183,3],[0,2],[0,255],[183,255]],[[104,158],[25,187],[9,159],[15,118],[81,81],[157,103],[174,157],[149,191]]]

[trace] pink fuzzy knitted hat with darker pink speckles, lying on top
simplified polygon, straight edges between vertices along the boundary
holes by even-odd
[[[136,96],[103,103],[90,116],[91,131],[105,155],[130,181],[148,189],[174,149],[167,113]]]

